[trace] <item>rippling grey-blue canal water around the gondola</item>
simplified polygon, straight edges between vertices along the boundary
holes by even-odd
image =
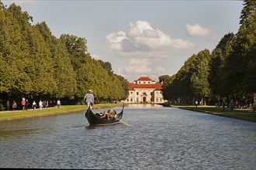
[[[157,105],[127,106],[123,121],[131,127],[91,127],[84,112],[2,121],[1,168],[256,167],[254,122]]]

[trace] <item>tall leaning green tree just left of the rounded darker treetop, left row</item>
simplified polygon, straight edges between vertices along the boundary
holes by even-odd
[[[76,73],[71,64],[70,54],[61,40],[52,35],[45,22],[36,24],[36,28],[39,29],[44,41],[47,42],[54,62],[54,80],[57,86],[54,90],[54,96],[57,98],[74,98],[74,93],[77,90]]]

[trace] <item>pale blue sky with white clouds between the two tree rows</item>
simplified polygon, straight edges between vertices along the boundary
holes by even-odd
[[[54,36],[87,40],[88,53],[129,82],[174,75],[203,49],[237,33],[242,1],[2,0],[46,22]]]

